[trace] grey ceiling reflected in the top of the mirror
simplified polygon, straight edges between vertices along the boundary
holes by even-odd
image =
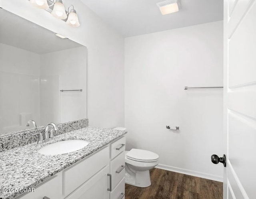
[[[37,54],[82,46],[4,9],[0,9],[0,43]]]

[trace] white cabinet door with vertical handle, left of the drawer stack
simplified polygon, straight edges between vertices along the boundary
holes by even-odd
[[[65,199],[109,199],[109,166],[104,167]]]

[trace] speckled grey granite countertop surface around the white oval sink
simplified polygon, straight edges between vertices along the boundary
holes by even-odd
[[[52,175],[89,156],[126,133],[122,130],[88,126],[55,136],[53,140],[43,144],[34,142],[0,152],[0,188],[34,188]],[[42,155],[38,153],[40,148],[61,140],[86,140],[90,143],[80,150],[67,154]],[[0,198],[12,199],[20,194],[20,192],[3,193],[0,191]]]

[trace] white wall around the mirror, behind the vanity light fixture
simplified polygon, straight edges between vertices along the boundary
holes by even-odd
[[[73,4],[81,26],[73,28],[29,1],[1,0],[0,7],[88,48],[88,118],[90,126],[124,126],[124,38],[79,0]]]

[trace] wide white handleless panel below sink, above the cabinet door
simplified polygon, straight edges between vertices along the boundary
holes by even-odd
[[[70,194],[109,162],[109,146],[63,171],[63,194]]]

